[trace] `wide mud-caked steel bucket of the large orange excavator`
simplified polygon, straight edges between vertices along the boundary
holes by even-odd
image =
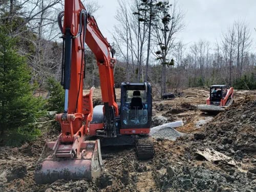
[[[53,183],[58,179],[95,180],[103,170],[99,140],[83,141],[83,150],[75,158],[56,158],[47,143],[35,167],[37,184]],[[46,158],[44,158],[46,157]]]

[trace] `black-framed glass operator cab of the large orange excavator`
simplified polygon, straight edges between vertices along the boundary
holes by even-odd
[[[121,129],[150,128],[152,94],[149,82],[121,83]]]

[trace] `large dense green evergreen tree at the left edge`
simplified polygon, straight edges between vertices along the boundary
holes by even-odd
[[[38,132],[31,127],[44,110],[44,101],[32,95],[26,58],[13,49],[14,38],[0,28],[0,141],[17,145]]]

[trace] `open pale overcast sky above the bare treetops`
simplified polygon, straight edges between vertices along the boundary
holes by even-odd
[[[256,50],[256,0],[176,0],[176,3],[185,14],[186,27],[179,34],[185,44],[199,39],[214,44],[235,20],[244,20],[253,38],[252,49]],[[117,0],[98,0],[98,4],[101,6],[95,15],[98,26],[102,34],[112,42],[111,31],[116,24]]]

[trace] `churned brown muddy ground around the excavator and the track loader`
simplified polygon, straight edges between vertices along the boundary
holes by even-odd
[[[0,191],[256,191],[256,91],[235,90],[234,104],[218,115],[197,111],[207,96],[207,90],[195,88],[172,100],[155,99],[152,126],[183,120],[176,130],[185,134],[176,141],[154,138],[155,157],[147,161],[136,159],[134,147],[102,148],[104,173],[95,182],[35,184],[36,161],[45,141],[56,139],[56,131],[42,128],[44,134],[31,143],[2,146]],[[99,100],[96,89],[94,101]],[[205,149],[222,153],[234,164],[197,154]]]

